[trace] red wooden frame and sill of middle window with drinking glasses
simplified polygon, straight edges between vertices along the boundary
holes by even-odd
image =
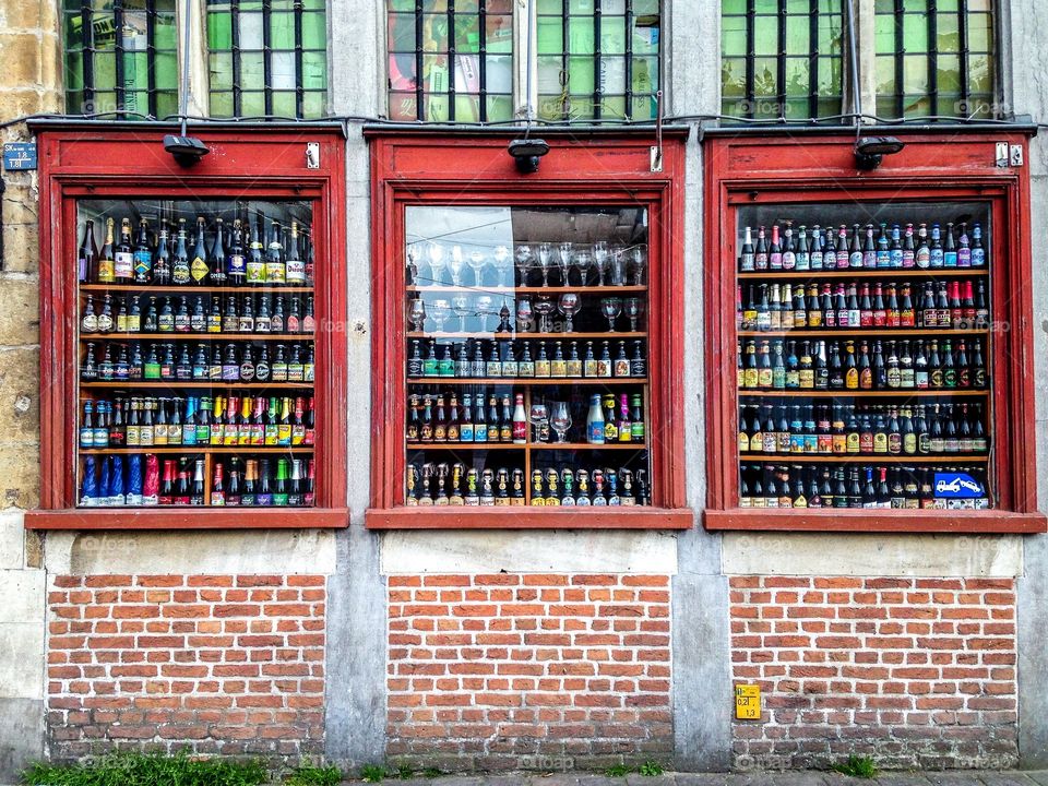
[[[573,139],[551,135],[532,175],[517,172],[508,136],[397,134],[373,130],[372,456],[369,528],[688,528],[684,501],[683,135],[666,134],[652,171],[651,133]],[[640,202],[650,210],[648,335],[651,449],[655,507],[419,508],[403,505],[405,424],[404,209],[418,204],[586,205]],[[664,317],[665,315],[665,317]],[[512,511],[512,513],[509,513]]]

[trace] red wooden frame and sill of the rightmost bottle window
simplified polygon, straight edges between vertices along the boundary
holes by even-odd
[[[1016,133],[901,134],[905,148],[873,171],[855,165],[854,135],[707,136],[705,153],[706,422],[710,467],[707,529],[1041,533],[1036,446],[1029,179],[1026,168],[997,166],[997,144]],[[979,199],[991,202],[996,251],[992,311],[1008,332],[993,340],[989,362],[995,412],[992,457],[998,508],[981,511],[769,510],[738,505],[736,393],[736,215],[740,205]],[[1024,362],[1025,360],[1025,362]]]

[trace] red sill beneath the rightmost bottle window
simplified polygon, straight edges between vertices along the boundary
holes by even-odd
[[[706,529],[895,533],[1044,533],[1044,513],[943,510],[707,510]]]

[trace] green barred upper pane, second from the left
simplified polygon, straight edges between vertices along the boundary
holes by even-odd
[[[326,114],[324,0],[207,0],[213,117]]]

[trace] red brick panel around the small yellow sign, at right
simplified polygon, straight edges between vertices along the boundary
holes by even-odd
[[[1011,579],[735,576],[736,683],[760,723],[736,722],[737,764],[1014,765]]]

